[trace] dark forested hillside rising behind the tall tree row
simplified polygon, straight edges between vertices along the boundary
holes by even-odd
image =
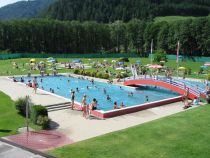
[[[58,0],[43,14],[59,20],[151,19],[156,16],[207,16],[210,1],[204,0]]]

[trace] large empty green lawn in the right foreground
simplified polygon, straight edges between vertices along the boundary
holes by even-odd
[[[59,158],[208,158],[209,120],[207,105],[49,153]]]

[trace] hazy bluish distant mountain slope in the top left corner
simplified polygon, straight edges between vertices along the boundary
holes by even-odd
[[[40,14],[55,0],[20,1],[0,8],[0,20],[28,19]]]

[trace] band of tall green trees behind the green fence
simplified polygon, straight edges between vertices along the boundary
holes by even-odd
[[[131,20],[110,24],[97,22],[33,19],[0,22],[0,50],[12,52],[95,53],[137,52],[147,56],[154,49],[181,54],[209,56],[210,18],[175,23]]]

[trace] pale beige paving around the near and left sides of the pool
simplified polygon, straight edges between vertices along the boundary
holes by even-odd
[[[6,77],[0,77],[0,91],[9,95],[13,100],[29,95],[33,103],[41,105],[69,101],[68,99],[57,97],[40,90],[35,94],[32,88],[12,82]],[[95,118],[85,119],[82,117],[81,111],[71,110],[70,108],[49,112],[49,117],[54,122],[53,126],[59,132],[66,134],[73,142],[78,142],[182,111],[184,111],[183,103],[177,102],[105,120]]]

